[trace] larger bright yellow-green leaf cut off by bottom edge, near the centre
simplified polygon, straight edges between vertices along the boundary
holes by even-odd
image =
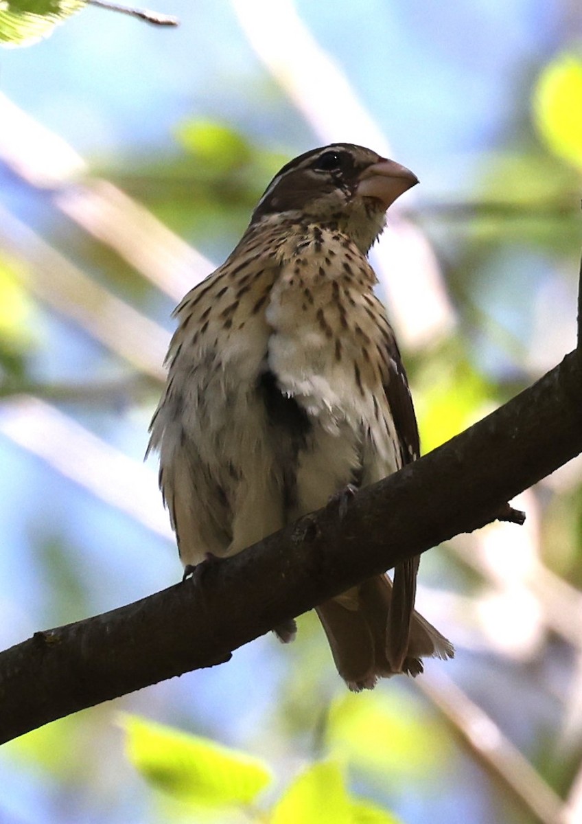
[[[286,789],[271,824],[352,824],[353,804],[337,761],[321,761]]]

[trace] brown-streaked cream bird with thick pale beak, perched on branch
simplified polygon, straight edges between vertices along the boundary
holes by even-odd
[[[352,143],[286,163],[226,262],[175,309],[151,421],[186,569],[226,558],[420,454],[370,247],[417,176]],[[365,536],[362,536],[365,552]],[[317,606],[352,691],[454,648],[415,609],[419,559]],[[292,640],[296,623],[274,628]]]

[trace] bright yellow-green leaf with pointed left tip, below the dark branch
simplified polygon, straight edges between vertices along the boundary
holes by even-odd
[[[211,807],[251,803],[272,779],[263,761],[179,730],[123,715],[129,759],[175,798]]]

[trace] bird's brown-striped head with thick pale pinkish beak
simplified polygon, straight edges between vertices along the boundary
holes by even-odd
[[[418,183],[405,166],[352,143],[333,143],[296,157],[272,179],[252,223],[281,216],[335,223],[367,252],[384,229],[386,209]]]

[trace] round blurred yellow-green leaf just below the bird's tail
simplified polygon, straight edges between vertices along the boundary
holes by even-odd
[[[389,700],[381,693],[347,694],[329,710],[329,746],[383,780],[428,775],[444,763],[445,742],[438,723],[402,693],[392,691]]]

